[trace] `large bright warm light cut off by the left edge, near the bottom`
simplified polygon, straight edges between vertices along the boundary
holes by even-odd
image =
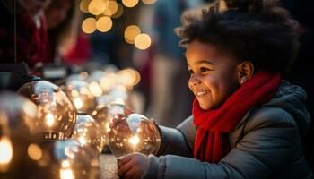
[[[0,139],[0,166],[9,164],[13,157],[13,147],[9,138]],[[1,169],[1,167],[0,167]]]

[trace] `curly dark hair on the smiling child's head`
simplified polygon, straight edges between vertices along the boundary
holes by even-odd
[[[298,23],[275,0],[225,0],[228,10],[203,10],[197,17],[183,13],[176,28],[180,45],[197,39],[213,44],[255,70],[286,74],[299,50]]]

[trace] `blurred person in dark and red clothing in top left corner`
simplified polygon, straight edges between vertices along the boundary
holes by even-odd
[[[49,3],[50,0],[0,2],[1,63],[25,62],[32,69],[45,62],[47,27],[43,9]]]

